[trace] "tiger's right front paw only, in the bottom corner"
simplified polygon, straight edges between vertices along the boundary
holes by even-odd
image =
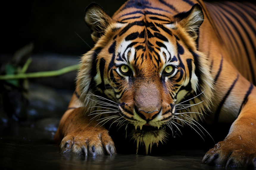
[[[246,146],[247,145],[247,146]],[[224,140],[218,142],[204,156],[201,163],[212,166],[226,167],[247,167],[256,168],[256,152],[255,146],[239,143],[235,140]]]

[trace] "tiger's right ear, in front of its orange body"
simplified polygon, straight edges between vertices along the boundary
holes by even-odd
[[[179,13],[174,18],[196,40],[199,27],[204,21],[202,7],[199,4],[195,4],[188,12]]]

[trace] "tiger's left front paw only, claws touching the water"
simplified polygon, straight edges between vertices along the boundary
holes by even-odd
[[[113,155],[115,145],[106,129],[90,128],[65,136],[60,143],[60,152],[87,155]]]

